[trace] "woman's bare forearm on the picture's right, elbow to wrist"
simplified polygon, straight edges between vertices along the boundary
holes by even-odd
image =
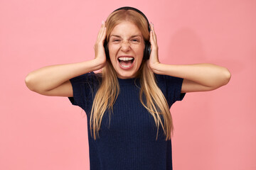
[[[159,63],[154,68],[154,72],[188,79],[203,86],[213,87],[213,89],[228,84],[231,77],[228,69],[215,64],[169,65]]]

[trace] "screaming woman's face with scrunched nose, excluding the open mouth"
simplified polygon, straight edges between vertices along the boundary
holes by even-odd
[[[110,33],[108,49],[110,60],[117,77],[130,79],[137,75],[144,54],[144,40],[139,28],[129,21],[123,21]],[[124,68],[119,64],[118,57],[134,57],[132,67]]]

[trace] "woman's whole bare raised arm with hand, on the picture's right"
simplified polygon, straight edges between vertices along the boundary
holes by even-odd
[[[151,55],[148,66],[156,74],[183,78],[181,92],[211,91],[228,84],[231,74],[225,67],[215,64],[171,65],[161,64],[158,58],[156,33],[151,25]]]

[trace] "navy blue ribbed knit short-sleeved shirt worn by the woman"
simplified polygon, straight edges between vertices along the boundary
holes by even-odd
[[[183,99],[183,79],[155,76],[169,108],[175,101]],[[113,113],[104,113],[97,140],[90,133],[90,112],[101,79],[91,72],[74,77],[70,82],[73,86],[73,97],[69,97],[71,103],[80,106],[87,115],[90,170],[172,169],[171,140],[166,140],[160,124],[156,140],[154,118],[139,101],[139,79],[118,78],[120,91]]]

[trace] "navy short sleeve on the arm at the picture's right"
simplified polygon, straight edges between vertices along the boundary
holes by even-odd
[[[181,93],[183,83],[182,78],[156,74],[156,81],[166,97],[169,107],[171,107],[171,105],[173,105],[176,101],[183,100],[186,93]]]

